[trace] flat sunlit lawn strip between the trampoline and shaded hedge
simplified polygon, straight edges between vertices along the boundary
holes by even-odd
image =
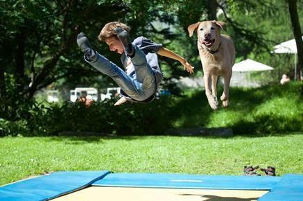
[[[303,134],[266,137],[4,137],[0,185],[52,171],[242,175],[243,166],[303,174]]]

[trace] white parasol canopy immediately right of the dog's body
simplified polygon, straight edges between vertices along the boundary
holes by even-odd
[[[234,64],[234,67],[232,67],[232,71],[234,72],[272,71],[272,70],[273,70],[272,67],[250,59],[236,63]]]

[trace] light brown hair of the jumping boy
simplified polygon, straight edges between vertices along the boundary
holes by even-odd
[[[100,34],[98,35],[98,40],[104,41],[105,38],[107,37],[111,37],[111,36],[116,37],[116,28],[118,27],[121,27],[128,32],[130,31],[130,27],[127,26],[126,24],[123,24],[119,21],[112,21],[110,23],[105,24],[105,26],[103,26]]]

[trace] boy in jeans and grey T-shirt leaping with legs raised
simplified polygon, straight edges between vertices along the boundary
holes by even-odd
[[[155,44],[145,37],[137,37],[131,43],[129,30],[126,24],[114,21],[105,24],[98,35],[98,40],[106,42],[110,51],[121,54],[125,71],[94,51],[83,33],[79,33],[77,37],[78,46],[85,53],[85,61],[101,73],[110,76],[121,87],[122,97],[114,105],[121,105],[126,100],[150,103],[155,98],[163,73],[159,69],[159,64],[150,67],[146,60],[149,53],[157,53],[178,60],[185,70],[193,73],[193,67],[187,60],[164,48],[162,44]]]

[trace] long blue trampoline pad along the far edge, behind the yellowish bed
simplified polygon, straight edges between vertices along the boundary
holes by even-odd
[[[269,190],[281,177],[114,173],[92,186],[128,186],[178,189]]]

